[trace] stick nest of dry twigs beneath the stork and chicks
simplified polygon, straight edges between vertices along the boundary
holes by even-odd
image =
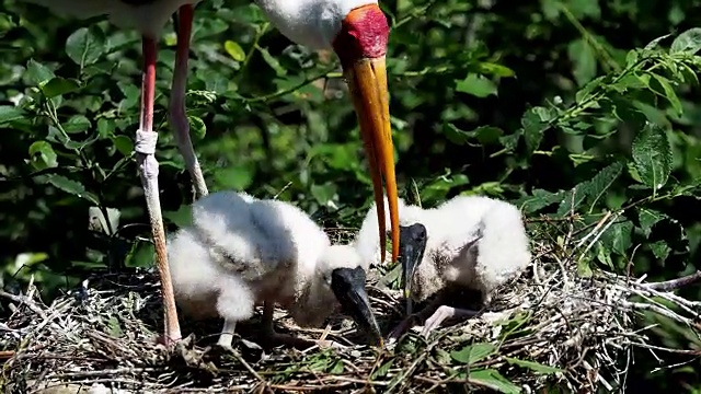
[[[616,216],[607,215],[584,236],[565,231],[561,242],[535,241],[530,269],[504,286],[489,311],[440,328],[428,339],[410,332],[383,350],[356,345],[360,336],[349,320],[334,316],[325,329],[304,329],[278,311],[277,331],[325,336],[347,347],[274,348],[265,355],[241,347],[241,356],[231,355],[210,347],[219,322],[184,318],[184,334],[195,334],[169,352],[153,340],[162,320],[158,281],[151,273],[96,276],[48,305],[33,286],[24,296],[2,292],[11,315],[0,323],[0,356],[5,358],[0,385],[7,393],[361,392],[368,387],[421,393],[466,385],[505,393],[553,385],[576,392],[622,391],[635,347],[698,356],[697,350],[651,345],[646,337],[651,327],[636,326],[636,317],[653,313],[698,332],[701,302],[665,291],[668,283],[651,285],[604,271],[587,278],[577,275],[581,257],[612,220]],[[556,224],[549,227],[544,233],[561,231]],[[347,234],[334,230],[332,239],[347,240]],[[397,270],[381,269],[369,276],[369,293],[380,326],[389,332],[402,320],[403,309],[399,291],[386,285]],[[244,338],[256,332],[256,320],[241,325]]]

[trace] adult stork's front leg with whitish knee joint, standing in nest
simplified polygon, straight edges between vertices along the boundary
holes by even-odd
[[[156,142],[158,134],[153,131],[153,94],[156,85],[156,59],[157,43],[153,38],[142,37],[143,42],[143,80],[141,82],[141,119],[139,130],[136,132],[136,160],[139,166],[146,207],[149,211],[149,221],[156,248],[156,266],[161,278],[161,291],[163,293],[163,309],[165,313],[166,346],[181,339],[177,311],[173,297],[173,283],[168,266],[165,253],[165,232],[163,218],[161,217],[161,201],[158,188],[158,161],[156,160]]]

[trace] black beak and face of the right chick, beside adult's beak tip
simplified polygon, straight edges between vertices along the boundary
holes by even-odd
[[[412,282],[414,273],[426,250],[426,227],[422,223],[400,225],[399,228],[399,260],[402,264],[402,289],[406,300],[406,314],[412,313]]]

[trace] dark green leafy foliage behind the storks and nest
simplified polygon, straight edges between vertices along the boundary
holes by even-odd
[[[530,218],[570,218],[581,229],[612,212],[619,219],[581,262],[583,275],[605,268],[663,280],[693,273],[701,30],[690,28],[701,25],[699,5],[383,1],[400,188],[417,190],[427,206],[458,194],[505,198]],[[186,222],[193,199],[165,117],[174,44],[169,24],[156,104],[169,230]],[[150,265],[133,154],[138,34],[2,0],[0,50],[3,286],[21,288],[33,274],[50,298],[87,270]],[[371,184],[329,55],[291,45],[248,1],[197,7],[187,115],[210,190],[279,196],[326,227],[358,223]],[[93,206],[118,210],[118,231],[91,230]],[[564,242],[564,234],[548,236],[554,247]],[[699,290],[682,296],[698,299]],[[700,348],[685,327],[642,316],[645,323],[659,324],[660,344]],[[699,392],[698,367],[641,352],[630,389]]]

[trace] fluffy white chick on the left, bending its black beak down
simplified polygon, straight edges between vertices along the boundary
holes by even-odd
[[[193,225],[169,240],[176,302],[193,317],[225,320],[218,344],[231,347],[235,324],[264,305],[264,335],[276,334],[275,304],[301,326],[318,326],[341,304],[356,323],[380,339],[365,291],[364,264],[348,245],[327,235],[291,204],[218,192],[193,204]]]

